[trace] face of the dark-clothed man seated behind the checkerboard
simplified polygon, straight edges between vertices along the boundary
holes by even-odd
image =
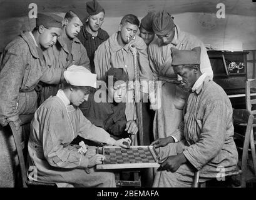
[[[127,84],[123,81],[116,81],[114,86],[108,88],[108,95],[111,99],[114,99],[116,103],[120,103],[125,99],[127,92]]]

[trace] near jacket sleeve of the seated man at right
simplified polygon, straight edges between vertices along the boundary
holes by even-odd
[[[223,147],[226,133],[228,105],[223,100],[207,103],[202,119],[202,133],[197,143],[183,151],[185,157],[195,168],[200,169],[215,158]]]

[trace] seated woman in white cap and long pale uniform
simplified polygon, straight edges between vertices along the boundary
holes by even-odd
[[[29,169],[36,169],[36,176],[28,173],[29,179],[57,186],[115,187],[114,173],[93,168],[105,156],[96,154],[95,147],[87,146],[86,151],[85,145],[72,145],[71,141],[79,134],[92,141],[127,148],[123,142],[130,145],[130,139],[116,141],[104,129],[91,124],[78,108],[96,87],[96,74],[73,68],[64,72],[64,78],[63,89],[41,104],[31,122]]]

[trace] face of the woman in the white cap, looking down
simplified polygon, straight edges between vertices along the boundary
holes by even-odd
[[[71,88],[70,102],[74,106],[79,106],[84,101],[88,101],[89,93],[83,89]]]

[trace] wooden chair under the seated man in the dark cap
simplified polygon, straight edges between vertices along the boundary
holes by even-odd
[[[253,179],[247,180],[247,174],[248,174],[248,152],[252,153],[252,161],[253,161],[253,174],[255,176],[256,180],[256,163],[255,163],[255,158],[256,154],[255,152],[252,151],[252,149],[255,149],[255,141],[253,138],[253,132],[252,132],[252,124],[253,124],[253,115],[248,111],[247,109],[235,109],[233,111],[233,116],[235,118],[241,119],[241,123],[247,124],[245,134],[240,134],[240,133],[235,133],[234,138],[237,141],[242,142],[242,147],[237,144],[237,150],[238,153],[242,151],[242,158],[240,158],[240,162],[238,163],[238,169],[235,171],[232,171],[227,174],[223,174],[225,177],[228,176],[235,176],[240,174],[241,176],[241,187],[245,187],[247,181],[254,181]],[[253,141],[253,143],[252,143]],[[251,148],[249,149],[249,144]],[[254,158],[254,159],[253,159]],[[200,171],[195,172],[194,180],[192,187],[198,187],[198,184],[200,187],[205,187],[205,182],[204,183],[198,183],[200,178]]]

